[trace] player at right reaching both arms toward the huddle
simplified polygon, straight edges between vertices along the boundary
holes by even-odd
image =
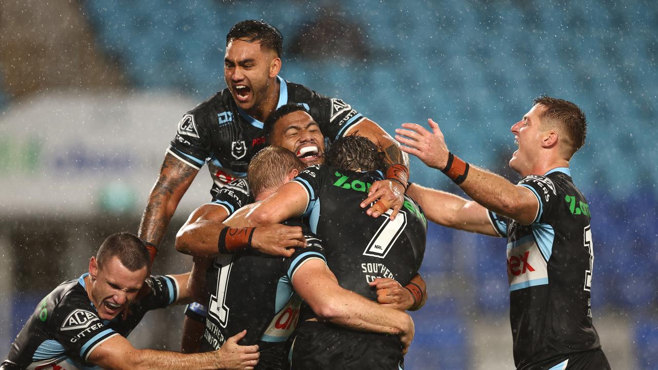
[[[402,150],[447,174],[473,201],[413,184],[409,194],[440,225],[507,237],[510,321],[517,369],[609,369],[592,325],[590,209],[569,161],[587,122],[574,103],[542,96],[511,132],[514,185],[450,153],[436,122],[395,130]]]

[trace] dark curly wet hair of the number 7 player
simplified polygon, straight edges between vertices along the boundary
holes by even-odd
[[[343,136],[329,145],[325,151],[326,164],[348,171],[385,171],[384,156],[377,145],[355,134]]]

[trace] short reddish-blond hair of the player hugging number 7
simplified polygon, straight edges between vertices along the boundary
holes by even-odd
[[[259,151],[249,162],[247,181],[255,196],[264,190],[278,189],[291,171],[303,171],[306,165],[290,150],[270,145]]]

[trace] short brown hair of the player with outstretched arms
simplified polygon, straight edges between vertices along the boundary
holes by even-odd
[[[545,120],[554,120],[567,134],[567,144],[571,147],[570,156],[585,145],[587,135],[587,119],[585,113],[570,101],[556,99],[542,95],[532,101],[534,105],[542,105],[544,110],[539,117]]]

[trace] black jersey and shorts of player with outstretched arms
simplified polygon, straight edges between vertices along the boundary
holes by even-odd
[[[563,369],[569,354],[601,347],[590,306],[590,209],[568,168],[526,176],[519,185],[539,200],[531,225],[488,212],[507,236],[514,361],[523,370]]]

